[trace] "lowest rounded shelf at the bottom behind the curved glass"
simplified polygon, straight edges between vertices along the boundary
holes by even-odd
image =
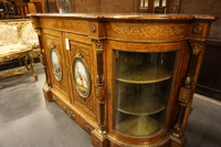
[[[129,116],[116,126],[116,130],[129,136],[147,136],[160,128],[150,116]]]

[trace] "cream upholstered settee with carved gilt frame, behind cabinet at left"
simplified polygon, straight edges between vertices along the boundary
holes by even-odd
[[[20,65],[25,66],[19,72],[8,70],[0,74],[0,77],[31,73],[36,78],[38,76],[33,71],[33,59],[39,57],[39,55],[38,34],[29,19],[0,21],[0,65],[19,62]]]

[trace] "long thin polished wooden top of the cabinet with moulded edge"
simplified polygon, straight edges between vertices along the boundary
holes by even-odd
[[[141,14],[141,13],[30,13],[29,17],[49,17],[49,18],[73,18],[73,19],[90,19],[90,20],[161,20],[161,21],[191,21],[207,20],[213,21],[218,19],[209,14]]]

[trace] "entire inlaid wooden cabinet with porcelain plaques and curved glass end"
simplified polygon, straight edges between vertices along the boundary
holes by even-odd
[[[30,15],[43,93],[94,147],[183,147],[212,15]]]

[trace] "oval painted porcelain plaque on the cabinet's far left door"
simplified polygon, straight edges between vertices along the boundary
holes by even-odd
[[[62,65],[60,62],[60,56],[56,53],[56,50],[53,48],[51,49],[51,63],[53,67],[53,74],[57,81],[62,80]]]

